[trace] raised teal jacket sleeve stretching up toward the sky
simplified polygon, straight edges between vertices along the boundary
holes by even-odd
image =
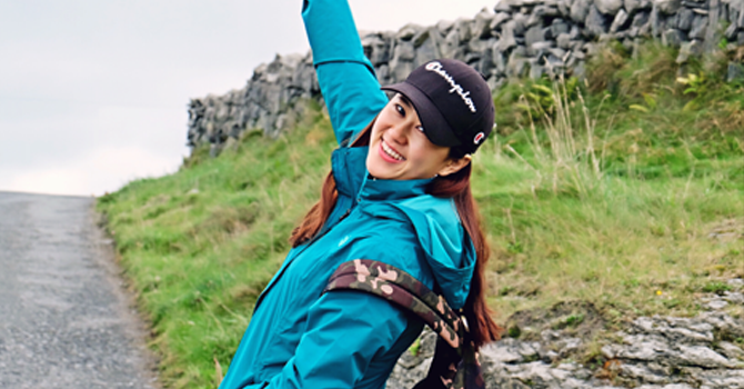
[[[302,9],[318,82],[336,141],[343,144],[388,103],[346,0],[304,0]]]

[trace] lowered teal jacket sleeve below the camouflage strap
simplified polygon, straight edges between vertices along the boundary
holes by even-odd
[[[373,357],[392,348],[406,326],[403,311],[379,297],[326,292],[311,307],[294,357],[261,388],[353,388]]]

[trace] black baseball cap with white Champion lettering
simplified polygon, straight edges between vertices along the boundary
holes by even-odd
[[[474,152],[493,130],[495,108],[483,76],[453,59],[429,61],[403,82],[382,87],[405,96],[432,143]]]

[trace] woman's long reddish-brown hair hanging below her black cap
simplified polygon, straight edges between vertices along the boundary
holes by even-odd
[[[368,146],[370,143],[370,129],[372,124],[374,124],[374,120],[362,130],[356,140],[353,141],[352,147]],[[450,158],[460,159],[464,156],[465,152],[462,149],[456,147],[450,148]],[[471,163],[467,163],[458,172],[436,177],[426,187],[426,193],[435,197],[452,198],[460,215],[460,221],[475,247],[475,270],[470,283],[470,293],[463,307],[463,313],[467,320],[473,342],[476,348],[480,348],[484,343],[499,340],[502,329],[491,318],[492,311],[485,301],[485,293],[487,291],[485,263],[489,260],[490,249],[481,228],[475,200],[470,190],[471,171]],[[292,231],[292,236],[290,237],[292,247],[306,242],[320,231],[325,220],[331,216],[338,198],[339,192],[335,188],[333,171],[330,171],[323,181],[320,200],[310,208],[304,219]]]

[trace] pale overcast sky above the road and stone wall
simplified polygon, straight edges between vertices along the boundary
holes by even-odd
[[[472,18],[486,0],[351,0],[358,28]],[[114,191],[177,170],[191,97],[308,51],[301,0],[0,0],[0,190]]]

